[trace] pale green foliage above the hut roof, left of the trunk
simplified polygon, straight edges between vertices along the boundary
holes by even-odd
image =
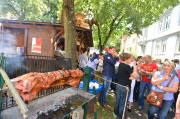
[[[57,22],[56,0],[1,0],[0,15],[16,20]]]

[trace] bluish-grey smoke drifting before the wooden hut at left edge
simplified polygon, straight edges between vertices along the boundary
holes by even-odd
[[[15,33],[10,30],[0,30],[0,53],[6,57],[5,70],[10,75],[10,78],[18,76],[22,70],[28,70],[24,65],[24,57],[17,53],[17,40]],[[21,74],[22,75],[22,74]]]

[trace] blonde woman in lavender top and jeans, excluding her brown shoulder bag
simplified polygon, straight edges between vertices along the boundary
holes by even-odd
[[[163,63],[162,71],[155,72],[152,77],[152,90],[156,92],[165,92],[165,94],[161,108],[151,104],[149,105],[149,119],[154,119],[155,113],[158,114],[158,119],[166,119],[167,113],[174,101],[174,93],[177,92],[179,85],[179,79],[175,76],[169,87],[166,87],[171,78],[174,76],[172,70],[174,70],[174,64],[167,60]]]

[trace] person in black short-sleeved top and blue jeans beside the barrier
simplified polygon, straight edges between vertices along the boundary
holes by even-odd
[[[135,79],[137,76],[136,64],[133,64],[134,69],[130,67],[132,58],[132,55],[129,53],[122,53],[120,56],[122,62],[119,64],[117,80],[117,83],[119,83],[120,85],[117,85],[118,92],[116,97],[116,103],[114,106],[114,114],[118,116],[118,119],[121,119],[123,116],[123,111],[126,105],[126,97],[129,94],[129,92],[127,93],[127,90],[128,87],[131,86],[131,80]],[[127,86],[127,88],[121,85]]]

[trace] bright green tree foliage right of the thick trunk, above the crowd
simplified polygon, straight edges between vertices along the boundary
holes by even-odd
[[[93,39],[104,48],[107,41],[120,39],[123,34],[140,34],[142,28],[158,20],[164,9],[177,3],[178,0],[76,0],[75,11],[97,20],[99,26],[93,27]]]

